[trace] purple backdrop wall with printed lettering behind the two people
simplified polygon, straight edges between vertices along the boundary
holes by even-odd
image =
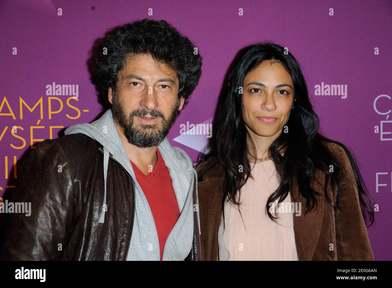
[[[0,197],[9,199],[31,139],[35,146],[101,114],[87,67],[94,41],[116,25],[164,19],[203,57],[200,84],[168,135],[172,145],[196,161],[206,136],[180,136],[181,124],[211,123],[223,78],[239,49],[263,40],[287,47],[301,64],[321,132],[352,149],[376,199],[376,223],[368,228],[374,257],[392,260],[392,2],[213,2],[2,0]],[[71,96],[47,96],[46,86],[53,82],[78,85],[78,98],[67,104]],[[316,95],[315,86],[322,83],[343,85],[344,93]],[[58,98],[51,100],[52,111],[62,105],[50,118],[49,97]],[[21,117],[22,100],[33,107],[41,98],[42,117],[39,105],[33,112],[22,105]]]

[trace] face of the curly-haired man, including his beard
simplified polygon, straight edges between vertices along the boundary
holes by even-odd
[[[114,121],[128,142],[138,147],[156,146],[165,139],[182,109],[174,69],[149,54],[130,56],[118,73],[116,91],[109,88]]]

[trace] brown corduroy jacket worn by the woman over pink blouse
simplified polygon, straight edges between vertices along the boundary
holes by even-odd
[[[351,178],[354,179],[350,160],[340,146],[328,144],[336,151],[340,163],[344,163],[343,169],[347,169]],[[199,171],[199,166],[196,167]],[[342,183],[343,192],[339,205],[347,214],[339,210],[334,215],[334,208],[324,196],[323,185],[325,176],[318,171],[314,190],[320,191],[316,196],[318,208],[305,215],[295,216],[293,213],[293,229],[298,260],[374,260],[370,246],[365,221],[359,205],[358,188],[348,179]],[[198,182],[198,200],[200,205],[200,229],[201,229],[201,254],[203,260],[218,260],[218,230],[220,226],[222,210],[223,168],[216,165],[211,168]],[[355,182],[354,182],[355,183]],[[292,199],[306,203],[298,194],[298,187],[290,191]],[[328,196],[336,200],[336,190],[331,191],[328,185]],[[330,243],[334,249],[330,250]]]

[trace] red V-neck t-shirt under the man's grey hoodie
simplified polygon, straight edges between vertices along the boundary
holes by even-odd
[[[156,154],[158,160],[155,167],[152,168],[152,172],[147,175],[144,175],[132,161],[131,164],[136,180],[142,187],[154,217],[159,239],[160,260],[162,260],[163,247],[167,236],[180,216],[180,210],[178,209],[169,170],[158,149],[156,149]]]

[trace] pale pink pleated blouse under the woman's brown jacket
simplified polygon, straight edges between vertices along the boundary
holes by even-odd
[[[254,179],[249,178],[241,188],[240,208],[245,226],[238,206],[225,203],[226,226],[223,232],[222,217],[218,232],[219,260],[298,260],[293,212],[278,213],[276,224],[265,211],[268,197],[279,186],[273,161],[256,163],[251,173]],[[290,193],[284,202],[291,202]]]

